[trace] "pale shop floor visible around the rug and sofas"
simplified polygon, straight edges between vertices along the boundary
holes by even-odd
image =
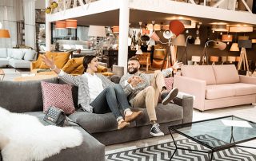
[[[29,70],[27,69],[4,69],[6,76],[4,78],[5,81],[12,81],[14,77],[19,77],[21,74],[24,73],[30,73]],[[256,122],[256,107],[251,104],[246,104],[246,105],[241,105],[241,106],[235,106],[235,107],[230,107],[230,108],[219,108],[219,109],[214,109],[214,110],[209,110],[206,112],[198,112],[198,110],[194,110],[193,113],[193,121],[197,120],[206,120],[210,118],[215,118],[215,117],[220,117],[220,116],[239,116],[242,118],[245,118],[247,120],[252,120]],[[182,136],[180,135],[174,135],[175,139],[182,139]],[[112,153],[112,152],[117,152],[117,151],[123,151],[124,149],[134,149],[138,147],[146,147],[149,145],[154,145],[158,143],[164,143],[171,141],[170,135],[165,135],[162,137],[154,137],[150,139],[141,139],[138,141],[133,141],[129,143],[118,143],[110,146],[106,146],[106,154]],[[250,141],[247,143],[244,143],[246,146],[250,147],[256,147],[256,140]],[[245,149],[246,151],[250,151],[254,154],[256,154],[256,150],[254,149]]]

